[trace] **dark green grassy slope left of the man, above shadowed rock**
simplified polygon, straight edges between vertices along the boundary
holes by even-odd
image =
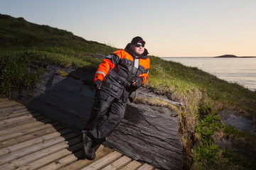
[[[115,50],[98,42],[84,40],[65,30],[28,23],[23,18],[0,15],[0,95],[9,96],[14,89],[33,86],[48,63],[63,67],[97,68],[101,59]],[[33,72],[28,66],[33,64]]]

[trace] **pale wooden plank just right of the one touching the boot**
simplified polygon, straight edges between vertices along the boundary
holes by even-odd
[[[114,151],[110,154],[107,154],[105,157],[102,157],[99,160],[93,162],[92,164],[90,164],[89,166],[85,167],[82,170],[102,169],[105,166],[114,162],[115,160],[119,159],[120,157],[122,157],[122,154]]]

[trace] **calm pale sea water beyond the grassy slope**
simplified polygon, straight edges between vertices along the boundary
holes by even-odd
[[[197,67],[216,77],[240,84],[256,91],[256,57],[214,58],[214,57],[168,57],[162,58],[183,65]]]

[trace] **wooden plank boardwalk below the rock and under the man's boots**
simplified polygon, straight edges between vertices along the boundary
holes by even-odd
[[[81,135],[0,98],[0,169],[154,169],[103,145],[84,158]]]

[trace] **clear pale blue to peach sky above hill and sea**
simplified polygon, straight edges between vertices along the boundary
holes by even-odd
[[[1,0],[0,13],[157,57],[256,56],[255,0]]]

